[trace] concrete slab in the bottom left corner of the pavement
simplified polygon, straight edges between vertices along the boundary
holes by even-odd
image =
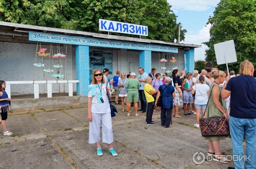
[[[1,149],[1,169],[72,169],[51,138],[5,144]],[[4,155],[4,156],[3,156]]]

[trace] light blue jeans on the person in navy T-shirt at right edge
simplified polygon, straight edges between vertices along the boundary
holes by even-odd
[[[247,169],[256,167],[256,118],[235,118],[230,116],[230,133],[232,138],[233,155],[244,155],[243,138],[246,140],[247,157],[251,155],[250,160],[245,162]],[[234,161],[236,169],[244,169],[244,161]]]

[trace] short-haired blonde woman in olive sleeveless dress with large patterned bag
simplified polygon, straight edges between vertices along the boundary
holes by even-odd
[[[226,120],[228,120],[227,108],[225,104],[225,100],[221,99],[221,88],[219,84],[225,81],[226,74],[217,70],[214,73],[215,81],[210,85],[209,89],[209,102],[207,108],[205,110],[204,118],[211,117],[222,117],[224,116]],[[225,139],[225,136],[212,136],[205,137],[206,140],[209,141],[209,149],[208,155],[213,155],[214,161],[221,161],[227,163],[227,159],[222,156],[220,150],[220,141]]]

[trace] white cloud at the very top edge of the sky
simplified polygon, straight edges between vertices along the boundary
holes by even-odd
[[[220,0],[167,0],[172,5],[172,10],[184,9],[188,11],[207,11],[216,6]]]

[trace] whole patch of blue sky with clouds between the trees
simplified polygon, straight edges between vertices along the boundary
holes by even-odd
[[[202,45],[195,49],[195,60],[204,60],[207,46],[201,44],[209,40],[209,28],[206,25],[209,16],[213,16],[220,0],[167,0],[177,15],[177,23],[187,30],[185,41],[181,43]]]

